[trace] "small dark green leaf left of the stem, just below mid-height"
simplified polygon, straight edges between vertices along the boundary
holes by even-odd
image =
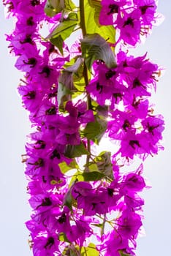
[[[83,143],[80,143],[80,145],[67,145],[64,153],[69,158],[81,157],[83,154],[89,154]]]

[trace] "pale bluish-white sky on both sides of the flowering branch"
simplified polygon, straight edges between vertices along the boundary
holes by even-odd
[[[138,240],[137,256],[171,255],[171,1],[159,1],[159,12],[165,16],[159,27],[138,47],[137,55],[148,51],[148,57],[167,71],[158,83],[153,101],[156,113],[164,115],[165,150],[145,163],[145,176],[152,189],[145,197],[144,227],[146,236]],[[28,232],[23,224],[31,209],[27,203],[26,178],[20,155],[24,153],[29,132],[28,115],[21,107],[17,86],[22,74],[15,69],[15,59],[7,54],[4,34],[12,30],[12,22],[4,19],[0,4],[0,255],[31,256]],[[134,51],[135,53],[135,51]]]

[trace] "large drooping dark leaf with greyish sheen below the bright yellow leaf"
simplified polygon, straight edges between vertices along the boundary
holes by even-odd
[[[89,70],[96,60],[104,61],[109,68],[116,66],[113,50],[99,34],[88,34],[80,42],[83,58]]]

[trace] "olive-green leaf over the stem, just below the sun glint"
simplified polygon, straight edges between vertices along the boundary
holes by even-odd
[[[93,140],[96,144],[102,139],[105,131],[107,129],[107,121],[99,116],[96,116],[94,122],[89,122],[81,134],[83,137],[88,138],[88,140]]]

